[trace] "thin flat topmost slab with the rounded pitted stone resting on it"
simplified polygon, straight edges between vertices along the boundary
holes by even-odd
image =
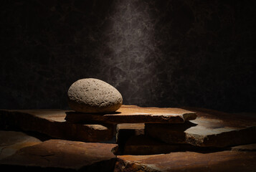
[[[100,121],[103,123],[184,123],[196,119],[196,113],[181,108],[141,108],[134,105],[122,105],[115,113],[90,114],[67,112],[67,121],[87,123]]]

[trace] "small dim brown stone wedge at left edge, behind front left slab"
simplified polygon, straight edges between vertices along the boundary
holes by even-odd
[[[42,143],[41,140],[22,132],[0,130],[0,160],[27,146]]]

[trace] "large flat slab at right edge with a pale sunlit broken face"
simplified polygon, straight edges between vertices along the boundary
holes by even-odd
[[[145,133],[166,143],[226,147],[256,142],[256,118],[216,110],[188,108],[196,120],[184,124],[146,124]]]

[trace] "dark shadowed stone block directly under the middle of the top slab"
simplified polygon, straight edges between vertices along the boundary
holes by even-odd
[[[117,125],[118,150],[115,155],[152,155],[176,151],[222,151],[220,148],[202,148],[190,144],[170,144],[145,135],[143,123]]]

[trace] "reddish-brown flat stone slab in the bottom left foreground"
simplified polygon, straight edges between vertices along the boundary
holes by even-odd
[[[47,140],[0,161],[1,168],[19,171],[113,171],[115,144]]]

